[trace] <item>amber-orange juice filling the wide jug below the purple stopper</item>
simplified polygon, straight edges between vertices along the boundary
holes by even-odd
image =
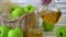
[[[59,10],[55,10],[55,11],[41,11],[38,13],[38,15],[42,17],[43,21],[45,21],[46,23],[57,23],[62,12]]]

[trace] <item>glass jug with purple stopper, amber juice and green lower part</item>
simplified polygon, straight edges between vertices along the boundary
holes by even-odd
[[[56,7],[54,0],[42,0],[41,8],[38,8],[38,16],[43,20],[43,27],[45,30],[53,30],[55,24],[62,16],[61,10]]]

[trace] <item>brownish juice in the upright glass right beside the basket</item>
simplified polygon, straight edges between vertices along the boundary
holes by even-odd
[[[36,26],[36,24],[37,24],[37,17],[36,17],[35,13],[31,13],[25,16],[26,26],[29,26],[31,28],[35,28],[34,26]]]

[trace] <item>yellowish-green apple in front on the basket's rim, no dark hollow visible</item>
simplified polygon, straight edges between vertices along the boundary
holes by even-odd
[[[20,17],[23,14],[24,14],[23,10],[20,9],[20,8],[16,8],[10,13],[10,17],[11,18],[16,18],[16,17]]]

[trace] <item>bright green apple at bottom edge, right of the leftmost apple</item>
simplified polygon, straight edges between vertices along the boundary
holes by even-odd
[[[23,30],[19,27],[12,28],[8,33],[8,37],[23,37]]]

